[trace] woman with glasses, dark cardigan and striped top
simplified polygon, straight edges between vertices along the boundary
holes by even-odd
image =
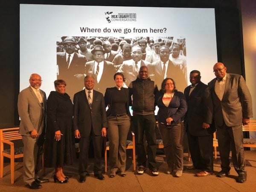
[[[175,82],[166,78],[161,90],[155,97],[159,108],[157,120],[163,140],[168,170],[171,174],[176,169],[175,177],[181,177],[183,170],[183,116],[187,111],[186,99],[183,93],[175,89]]]

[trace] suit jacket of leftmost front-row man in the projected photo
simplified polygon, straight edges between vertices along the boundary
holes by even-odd
[[[84,55],[75,52],[70,67],[67,68],[66,52],[57,52],[57,79],[66,81],[66,92],[70,95],[71,100],[73,100],[73,95],[84,87],[83,76],[77,78],[74,75],[84,74],[86,61],[87,59]]]

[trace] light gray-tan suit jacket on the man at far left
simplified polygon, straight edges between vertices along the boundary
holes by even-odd
[[[43,105],[38,101],[32,88],[23,89],[18,95],[18,113],[20,116],[20,134],[30,136],[29,131],[37,130],[42,134],[46,121],[46,94],[40,90]]]

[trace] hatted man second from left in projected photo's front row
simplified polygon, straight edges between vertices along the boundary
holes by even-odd
[[[104,94],[106,87],[114,85],[111,79],[113,79],[116,69],[113,63],[104,60],[105,51],[101,45],[95,45],[91,53],[94,60],[85,64],[85,73],[95,79],[94,89]]]

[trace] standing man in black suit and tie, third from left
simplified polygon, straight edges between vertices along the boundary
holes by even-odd
[[[90,137],[94,149],[94,176],[104,180],[102,175],[102,137],[107,134],[108,127],[105,102],[102,93],[93,90],[93,76],[84,77],[85,89],[74,95],[73,129],[79,141],[79,182],[83,183],[88,175],[88,152]]]

